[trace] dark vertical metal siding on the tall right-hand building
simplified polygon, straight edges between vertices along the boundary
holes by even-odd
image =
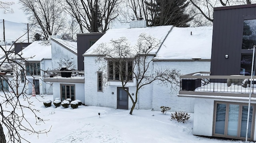
[[[256,19],[256,4],[240,7],[214,9],[211,75],[240,74],[244,19]]]

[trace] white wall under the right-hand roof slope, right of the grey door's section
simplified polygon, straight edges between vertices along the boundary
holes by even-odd
[[[169,67],[178,69],[180,73],[189,74],[200,71],[210,71],[210,61],[160,61],[154,62],[154,69],[160,67]],[[178,90],[180,89],[178,85]],[[160,111],[161,106],[168,106],[171,111],[185,111],[194,113],[194,98],[183,98],[177,96],[178,91],[171,90],[170,87],[158,84],[153,85],[153,102],[152,108]]]

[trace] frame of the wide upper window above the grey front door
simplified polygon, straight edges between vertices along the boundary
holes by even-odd
[[[133,82],[133,65],[134,65],[134,61],[133,61],[133,59],[128,59],[128,60],[124,60],[124,61],[118,61],[118,60],[113,60],[113,59],[107,59],[107,62],[108,62],[108,80],[109,81],[121,81],[121,74],[120,74],[120,72],[118,72],[118,76],[116,75],[116,67],[117,66],[115,66],[116,65],[116,63],[119,63],[118,64],[118,66],[119,66],[119,68],[118,69],[120,69],[120,66],[121,66],[121,68],[122,68],[122,62],[125,62],[125,74],[123,74],[123,75],[125,75],[125,78],[127,77],[127,78],[129,78],[128,79],[128,82]],[[110,67],[110,62],[112,62],[112,66]],[[131,64],[131,68],[132,69],[128,69],[128,63],[129,62],[131,62],[132,64]],[[112,69],[113,68],[113,69]],[[110,69],[112,69],[112,70],[110,70]],[[128,74],[128,72],[131,72],[131,74]],[[110,72],[112,72],[111,74],[112,74],[112,76],[110,77]],[[126,81],[127,79],[124,79],[124,81]]]

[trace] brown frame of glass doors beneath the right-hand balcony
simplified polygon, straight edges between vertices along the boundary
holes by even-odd
[[[225,112],[225,123],[224,123],[224,135],[215,133],[216,128],[216,112],[217,112],[217,104],[226,104],[226,112]],[[229,114],[229,105],[239,105],[239,115],[238,115],[238,134],[237,136],[228,135],[228,114]],[[242,123],[242,106],[248,106],[247,103],[241,102],[225,102],[225,101],[214,101],[214,116],[213,116],[213,125],[212,125],[212,136],[214,137],[226,137],[233,139],[245,139],[245,137],[240,137],[241,135],[241,123]],[[248,139],[253,140],[254,138],[254,123],[255,123],[255,108],[256,104],[250,104],[252,106],[252,125],[251,125],[251,135]],[[246,118],[247,119],[247,118]]]

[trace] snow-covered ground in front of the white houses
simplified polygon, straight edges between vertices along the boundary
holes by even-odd
[[[22,98],[22,97],[21,97]],[[38,98],[38,99],[36,99]],[[53,100],[52,95],[44,99],[38,95],[31,97],[34,108],[40,110],[38,116],[47,121],[35,125],[35,116],[26,111],[25,116],[34,129],[50,129],[47,134],[22,137],[31,143],[243,143],[210,139],[192,135],[193,114],[187,123],[170,121],[170,112],[166,115],[160,111],[119,110],[96,106],[79,106],[77,109],[46,108],[43,101]],[[22,100],[23,101],[23,100]],[[24,101],[26,102],[26,101]],[[100,112],[100,117],[98,116]],[[51,127],[52,126],[52,127]],[[25,141],[24,141],[25,142]]]

